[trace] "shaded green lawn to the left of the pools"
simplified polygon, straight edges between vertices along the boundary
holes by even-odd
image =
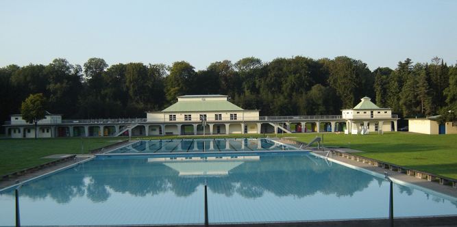
[[[53,160],[41,157],[88,153],[88,150],[114,144],[121,139],[125,138],[0,139],[0,176]]]

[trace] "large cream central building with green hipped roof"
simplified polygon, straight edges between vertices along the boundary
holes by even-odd
[[[206,118],[205,134],[260,133],[259,111],[242,109],[228,101],[228,96],[178,96],[177,103],[156,112],[147,113],[149,135],[203,134],[201,119]]]

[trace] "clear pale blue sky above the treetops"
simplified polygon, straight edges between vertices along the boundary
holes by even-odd
[[[0,67],[347,55],[395,68],[457,60],[457,1],[5,1]]]

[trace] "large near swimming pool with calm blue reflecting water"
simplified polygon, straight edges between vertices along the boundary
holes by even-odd
[[[99,155],[25,183],[23,225],[298,222],[388,216],[388,181],[310,152]],[[395,217],[456,215],[457,199],[394,185]],[[0,192],[0,226],[14,191]]]

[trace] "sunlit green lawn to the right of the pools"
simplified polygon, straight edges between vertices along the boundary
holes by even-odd
[[[318,134],[288,134],[301,142],[310,142]],[[422,135],[416,133],[384,133],[384,135],[344,135],[319,133],[324,146],[341,146],[364,152],[364,157],[395,163],[407,168],[457,178],[457,134]]]

